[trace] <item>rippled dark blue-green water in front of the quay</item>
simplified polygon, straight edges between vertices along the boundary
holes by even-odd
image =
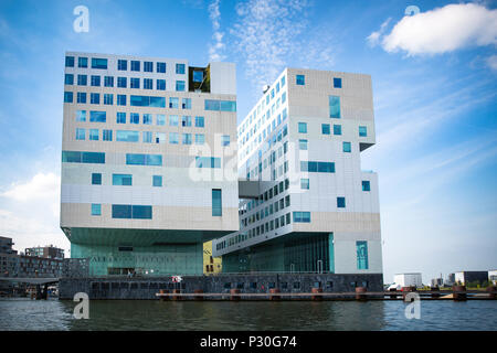
[[[497,330],[497,301],[421,301],[406,319],[395,301],[154,301],[95,300],[76,320],[73,301],[2,299],[7,330]]]

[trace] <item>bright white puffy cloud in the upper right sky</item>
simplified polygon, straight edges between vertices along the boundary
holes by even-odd
[[[380,35],[373,32],[368,41],[377,43]],[[381,40],[387,52],[404,51],[410,56],[490,44],[497,44],[497,10],[476,3],[447,4],[406,15]]]

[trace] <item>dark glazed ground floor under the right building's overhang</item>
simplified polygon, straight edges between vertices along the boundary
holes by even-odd
[[[223,255],[223,272],[335,272],[332,233],[289,233]]]

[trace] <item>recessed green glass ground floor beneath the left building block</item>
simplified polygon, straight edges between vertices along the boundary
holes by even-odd
[[[203,243],[224,234],[201,231],[64,229],[72,258],[88,258],[89,276],[203,274]]]

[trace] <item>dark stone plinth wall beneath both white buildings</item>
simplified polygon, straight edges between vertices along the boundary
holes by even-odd
[[[282,293],[310,292],[321,288],[322,292],[353,292],[356,287],[368,291],[383,290],[382,274],[246,274],[215,276],[184,276],[181,284],[171,277],[154,278],[62,278],[59,298],[72,300],[77,292],[85,292],[89,299],[157,299],[156,293],[165,289],[181,289],[182,293],[224,293],[239,289],[242,293],[268,293],[277,288]]]

